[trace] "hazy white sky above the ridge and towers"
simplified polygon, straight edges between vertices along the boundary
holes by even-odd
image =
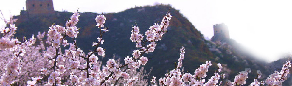
[[[292,1],[290,0],[53,0],[56,11],[109,13],[154,3],[171,4],[201,33],[213,36],[213,25],[225,23],[230,38],[260,59],[274,61],[292,50]],[[6,18],[26,9],[25,0],[1,0]],[[0,22],[3,26],[4,22]]]

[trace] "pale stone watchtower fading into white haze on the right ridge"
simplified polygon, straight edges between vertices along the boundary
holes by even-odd
[[[227,25],[224,23],[213,25],[214,36],[211,38],[212,41],[222,41],[229,39],[229,31]]]

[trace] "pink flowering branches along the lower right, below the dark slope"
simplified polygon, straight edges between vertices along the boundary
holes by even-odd
[[[209,66],[212,65],[211,61],[206,61],[206,64],[200,65],[198,69],[195,70],[194,74],[184,73],[180,68],[182,67],[182,60],[184,59],[184,47],[180,50],[180,58],[178,59],[178,65],[176,68],[165,74],[165,77],[159,79],[160,86],[243,86],[246,84],[246,79],[248,78],[248,73],[251,72],[250,68],[246,68],[245,71],[239,72],[237,76],[235,76],[234,81],[225,80],[225,74],[218,74],[223,66],[220,63],[217,64],[218,69],[215,71],[214,75],[206,81],[204,78],[207,76]],[[282,86],[282,82],[287,79],[287,75],[290,73],[291,62],[286,61],[283,65],[282,70],[275,71],[272,73],[265,81],[259,82],[258,79],[262,77],[262,73],[260,70],[257,71],[257,76],[254,79],[254,82],[249,86],[264,86],[265,83],[267,86]],[[151,85],[156,86],[156,77],[153,77],[151,80]]]

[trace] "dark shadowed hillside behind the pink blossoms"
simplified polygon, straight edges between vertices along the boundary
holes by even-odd
[[[106,13],[105,27],[109,28],[109,32],[103,35],[105,43],[101,46],[106,48],[106,56],[103,61],[111,59],[113,54],[118,58],[131,56],[132,51],[136,50],[135,43],[130,40],[132,26],[137,24],[141,32],[145,32],[151,25],[161,20],[169,8],[171,8],[169,5],[156,5],[135,7],[118,13]],[[193,73],[205,61],[212,61],[213,64],[209,69],[209,75],[214,74],[217,63],[225,64],[224,72],[230,76],[226,77],[231,81],[238,72],[243,71],[246,67],[251,67],[252,74],[249,75],[251,77],[256,76],[258,69],[265,70],[264,64],[251,59],[248,54],[238,53],[236,46],[231,49],[224,43],[216,44],[205,40],[203,35],[179,10],[171,8],[170,14],[172,18],[168,32],[157,43],[156,50],[145,55],[150,58],[145,67],[147,70],[153,67],[151,75],[162,77],[167,70],[174,69],[174,63],[179,58],[181,46],[186,48],[183,61],[184,70],[190,71],[190,73]],[[72,13],[69,12],[56,12],[52,16],[15,16],[14,18],[18,18],[18,21],[15,22],[18,34],[15,36],[22,38],[22,36],[29,37],[31,34],[37,34],[38,31],[47,32],[53,23],[64,26],[66,19],[69,19],[71,15]],[[98,14],[91,12],[80,13],[77,27],[81,30],[80,34],[77,35],[77,44],[84,52],[94,49],[91,44],[97,41],[96,38],[99,35],[99,30],[95,26],[96,15]],[[248,82],[251,83],[253,80]]]

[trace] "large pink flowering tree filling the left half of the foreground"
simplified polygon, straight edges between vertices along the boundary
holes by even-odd
[[[133,51],[133,57],[127,56],[125,60],[124,65],[119,65],[120,62],[116,62],[115,59],[110,59],[107,62],[106,66],[103,66],[101,68],[101,62],[97,61],[98,58],[95,55],[97,53],[98,56],[104,56],[105,50],[102,47],[99,47],[100,44],[103,44],[104,40],[102,40],[102,35],[107,32],[108,28],[102,28],[104,27],[104,23],[106,18],[104,15],[98,15],[96,17],[97,27],[100,30],[100,37],[97,38],[97,43],[93,43],[92,46],[95,47],[94,51],[87,53],[82,52],[80,48],[77,47],[77,43],[74,40],[74,38],[77,37],[78,28],[75,26],[78,19],[79,13],[76,12],[72,15],[70,20],[66,22],[66,28],[62,27],[60,25],[52,25],[48,31],[48,38],[46,40],[47,44],[51,44],[52,46],[46,47],[44,49],[44,43],[42,39],[44,38],[44,33],[38,34],[38,39],[40,40],[40,44],[37,46],[34,46],[33,48],[27,48],[30,52],[30,56],[35,57],[43,57],[42,59],[32,59],[29,58],[29,55],[26,60],[19,61],[22,65],[25,64],[24,62],[29,62],[30,60],[35,60],[37,62],[43,62],[38,64],[49,64],[49,65],[40,65],[39,72],[42,74],[43,77],[47,77],[47,82],[45,82],[45,85],[61,85],[61,81],[66,81],[71,83],[71,85],[106,85],[106,83],[112,83],[113,85],[119,84],[119,79],[123,78],[122,82],[125,82],[126,85],[133,85],[135,81],[138,80],[144,80],[143,77],[145,74],[142,74],[144,71],[143,67],[140,69],[140,71],[136,72],[133,70],[136,70],[140,68],[140,65],[145,65],[148,61],[147,57],[144,57],[141,55],[149,52],[153,52],[156,43],[155,41],[161,40],[162,35],[166,33],[166,28],[169,25],[170,20],[170,14],[168,13],[167,16],[162,20],[161,24],[155,24],[153,25],[145,35],[147,36],[147,40],[142,40],[144,38],[143,35],[139,34],[139,27],[134,26],[131,34],[131,40],[133,42],[136,42],[137,49]],[[14,25],[15,27],[15,25]],[[15,28],[16,29],[16,28]],[[7,29],[8,30],[8,29]],[[4,30],[5,32],[6,30]],[[6,32],[7,33],[7,32]],[[66,37],[72,38],[74,41],[73,43],[70,43],[70,48],[65,50],[64,53],[60,50],[60,45],[68,46],[69,43],[65,39]],[[3,39],[3,38],[2,38]],[[30,42],[30,41],[29,41]],[[148,43],[147,43],[148,42]],[[2,48],[2,47],[1,47]],[[25,49],[24,49],[25,50]],[[23,50],[23,51],[24,51]],[[21,56],[24,56],[22,52],[20,52]],[[19,54],[18,54],[19,55]],[[141,58],[140,58],[141,57]],[[48,62],[45,62],[43,60],[47,60]],[[28,67],[32,67],[31,63],[27,63]],[[81,64],[81,65],[80,65]],[[67,68],[66,68],[67,67]],[[35,68],[33,68],[35,69]],[[21,70],[18,68],[18,70]],[[130,71],[128,71],[130,70]],[[52,71],[52,72],[50,72]],[[33,71],[27,71],[25,73],[33,73],[37,72],[37,70]],[[135,73],[136,72],[136,73]],[[129,74],[130,73],[130,74]],[[144,72],[145,73],[145,72]],[[39,74],[39,73],[36,73]],[[30,77],[37,77],[35,75]],[[67,74],[70,75],[70,77],[64,77]],[[3,74],[2,76],[4,76]],[[15,74],[20,75],[20,73]],[[131,76],[130,76],[131,75]],[[135,76],[133,76],[135,75]],[[5,76],[4,76],[5,77]],[[9,77],[9,76],[8,76]],[[139,79],[140,78],[140,79]],[[142,78],[142,79],[141,79]],[[10,85],[13,84],[13,80],[2,80],[5,79],[1,77],[1,85]],[[37,82],[40,82],[40,80],[43,79],[42,77],[32,78],[33,81],[27,81],[28,85],[35,85]],[[62,80],[63,79],[63,80]],[[4,83],[7,82],[8,83]],[[21,81],[15,81],[16,83]],[[141,83],[142,85],[147,85],[147,80],[145,83]],[[20,84],[21,85],[21,84]],[[121,85],[121,84],[119,84]]]

